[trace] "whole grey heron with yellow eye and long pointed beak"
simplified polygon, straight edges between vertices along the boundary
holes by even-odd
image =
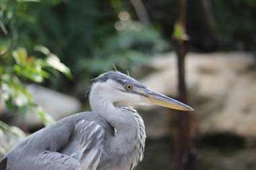
[[[145,127],[136,110],[119,103],[193,111],[118,71],[96,78],[89,100],[92,112],[63,118],[18,142],[1,159],[0,169],[134,169],[143,159]]]

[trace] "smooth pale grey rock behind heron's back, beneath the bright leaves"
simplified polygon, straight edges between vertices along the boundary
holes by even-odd
[[[28,85],[27,89],[32,94],[34,101],[40,105],[44,112],[50,114],[54,120],[60,120],[80,111],[81,103],[74,97],[39,85]],[[24,127],[25,124],[28,128],[36,128],[42,126],[42,121],[36,114],[29,111],[25,118],[18,114],[11,121],[8,121],[8,124],[18,127]]]

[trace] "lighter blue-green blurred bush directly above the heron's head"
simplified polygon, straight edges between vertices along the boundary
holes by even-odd
[[[94,50],[92,57],[82,58],[77,69],[91,75],[113,69],[113,65],[117,65],[119,69],[137,71],[150,54],[168,48],[160,34],[152,29],[143,28],[139,22],[129,17],[127,20],[116,22],[115,27],[117,34],[107,37],[101,48]]]

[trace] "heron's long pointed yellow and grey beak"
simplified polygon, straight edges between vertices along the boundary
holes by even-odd
[[[166,108],[172,108],[176,110],[194,111],[189,105],[185,105],[180,101],[152,91],[151,89],[145,89],[140,93],[141,100],[152,105],[161,105]]]

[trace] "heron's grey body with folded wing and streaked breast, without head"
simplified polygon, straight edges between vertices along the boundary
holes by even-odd
[[[115,134],[115,128],[98,114],[92,112],[75,114],[46,126],[19,142],[7,154],[7,167],[9,169],[21,169],[22,167],[24,170],[53,169],[53,167],[76,170],[80,166],[83,170],[135,167],[139,159],[142,159],[145,146],[144,128],[141,127],[139,131],[139,124],[143,126],[143,122],[139,114],[131,108],[119,109],[126,113],[129,112],[130,118],[127,118],[127,122],[123,124],[123,129],[118,130],[118,134]],[[127,128],[129,126],[134,128]],[[48,140],[49,136],[51,140]],[[123,147],[122,140],[135,148]],[[82,157],[83,153],[84,157]],[[24,155],[27,154],[30,157],[24,159]],[[128,155],[134,155],[135,159],[123,159]],[[24,161],[21,161],[23,159]],[[116,162],[115,167],[113,167],[113,162]],[[57,163],[59,165],[56,167]]]

